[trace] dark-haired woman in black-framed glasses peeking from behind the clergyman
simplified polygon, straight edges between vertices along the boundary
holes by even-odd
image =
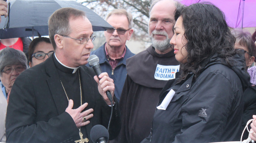
[[[54,53],[53,45],[49,38],[34,38],[28,48],[29,67],[44,62]]]

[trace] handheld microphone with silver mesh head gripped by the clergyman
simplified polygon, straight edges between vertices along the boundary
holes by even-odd
[[[94,72],[96,73],[96,75],[98,77],[102,73],[99,61],[100,61],[99,58],[95,54],[90,55],[90,57],[88,58],[89,65],[93,67]],[[110,91],[106,91],[106,95],[108,96],[110,102],[112,102],[113,99],[112,99]]]

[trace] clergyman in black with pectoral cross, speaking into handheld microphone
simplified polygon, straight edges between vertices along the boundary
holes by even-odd
[[[90,129],[108,126],[114,83],[107,73],[95,76],[84,66],[94,47],[93,29],[83,11],[62,8],[48,21],[54,54],[24,71],[15,81],[6,115],[7,142],[92,142]],[[110,139],[120,129],[114,104]]]

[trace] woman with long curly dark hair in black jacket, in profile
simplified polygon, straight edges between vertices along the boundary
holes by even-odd
[[[239,141],[250,76],[224,14],[196,3],[176,10],[175,20],[170,44],[180,73],[161,91],[151,134],[142,142]]]

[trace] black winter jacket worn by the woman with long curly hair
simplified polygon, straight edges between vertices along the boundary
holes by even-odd
[[[151,134],[142,143],[239,141],[242,95],[250,81],[242,56],[232,57],[231,68],[213,56],[196,79],[190,73],[181,82],[169,80],[158,106],[171,89],[175,94],[166,110],[156,110]]]

